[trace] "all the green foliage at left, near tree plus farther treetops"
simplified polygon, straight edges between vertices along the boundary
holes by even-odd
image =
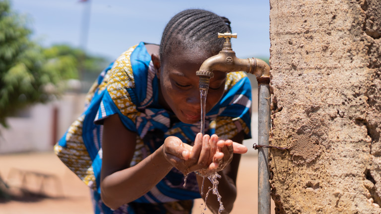
[[[79,77],[78,69],[99,72],[106,65],[104,58],[87,56],[82,50],[68,45],[42,48],[30,39],[31,34],[32,30],[28,28],[24,17],[11,10],[8,0],[0,0],[2,126],[6,126],[5,118],[17,110],[47,102],[59,94],[63,80]],[[79,64],[83,66],[79,68]]]

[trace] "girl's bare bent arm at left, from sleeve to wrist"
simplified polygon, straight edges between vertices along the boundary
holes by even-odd
[[[129,167],[135,146],[136,133],[127,130],[117,114],[104,120],[101,197],[111,209],[147,193],[172,168],[164,157],[163,146]]]

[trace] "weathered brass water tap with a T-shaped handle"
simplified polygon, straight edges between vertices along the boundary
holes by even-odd
[[[213,78],[213,71],[223,71],[226,73],[246,71],[254,74],[258,83],[269,83],[270,66],[258,58],[237,58],[232,50],[231,38],[237,38],[236,33],[218,33],[218,38],[225,38],[222,50],[217,54],[206,59],[196,75],[200,77],[199,89],[209,89],[209,79]]]

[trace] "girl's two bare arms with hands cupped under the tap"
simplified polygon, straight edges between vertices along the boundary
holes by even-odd
[[[219,159],[229,157],[233,148],[235,153],[242,154],[247,151],[245,146],[243,149],[237,147],[236,143],[232,144],[232,141],[228,141],[231,147],[230,153],[225,141],[222,141],[222,143],[217,142],[221,145],[219,150],[222,152],[216,152],[217,148],[210,145],[208,137],[202,137],[200,133],[197,137],[193,147],[184,144],[176,137],[169,137],[154,153],[129,167],[135,152],[136,133],[127,130],[117,114],[107,117],[103,123],[102,139],[101,197],[103,203],[116,210],[151,190],[172,167],[184,173],[204,168],[213,171],[217,169]],[[237,137],[234,140],[242,142]],[[230,163],[233,167],[227,166],[223,173],[220,171],[222,178],[218,189],[222,196],[226,195],[223,199],[226,210],[232,207],[235,200],[235,179],[239,164],[237,160],[234,158]],[[200,183],[199,186],[201,186]],[[233,193],[234,197],[230,198]],[[214,205],[218,204],[216,199],[212,199],[211,196],[207,202],[207,204],[211,203],[213,210],[216,208],[218,211],[218,207]]]

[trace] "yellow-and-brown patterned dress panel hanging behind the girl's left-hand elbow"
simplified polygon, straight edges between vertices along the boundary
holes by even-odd
[[[95,176],[92,170],[92,160],[87,152],[82,138],[82,126],[85,115],[74,121],[66,134],[66,147],[54,146],[56,155],[73,171],[86,185],[96,189]]]

